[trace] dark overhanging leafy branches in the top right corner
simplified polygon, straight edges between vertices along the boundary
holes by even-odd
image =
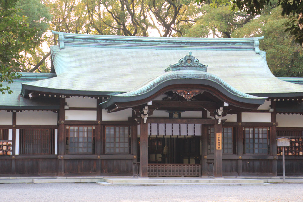
[[[195,2],[208,2],[209,0],[195,0]],[[212,0],[211,6],[230,4],[235,10],[238,8],[249,15],[259,15],[268,5],[281,5],[281,16],[288,15],[289,18],[284,22],[285,31],[295,36],[295,41],[303,46],[303,2],[301,0]]]

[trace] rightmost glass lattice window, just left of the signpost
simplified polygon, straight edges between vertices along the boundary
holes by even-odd
[[[245,154],[268,154],[268,129],[245,128]]]

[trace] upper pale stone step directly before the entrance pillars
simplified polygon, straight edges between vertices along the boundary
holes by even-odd
[[[260,179],[235,179],[235,178],[105,178],[110,184],[151,184],[151,183],[227,183],[227,184],[263,184]]]

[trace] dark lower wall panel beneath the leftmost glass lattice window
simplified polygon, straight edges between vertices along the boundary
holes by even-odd
[[[95,159],[65,159],[65,173],[96,173]]]

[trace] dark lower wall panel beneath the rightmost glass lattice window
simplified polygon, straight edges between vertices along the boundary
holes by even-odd
[[[271,160],[242,160],[243,173],[272,173]]]

